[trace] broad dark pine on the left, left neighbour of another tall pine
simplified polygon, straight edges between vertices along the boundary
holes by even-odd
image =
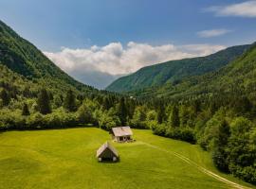
[[[38,94],[37,105],[39,112],[41,112],[42,114],[47,114],[51,112],[50,99],[46,89],[42,89]]]

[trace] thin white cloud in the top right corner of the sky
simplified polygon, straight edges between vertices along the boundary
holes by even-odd
[[[205,10],[214,12],[216,16],[240,16],[253,18],[256,17],[256,1],[246,1],[227,6],[214,6]]]

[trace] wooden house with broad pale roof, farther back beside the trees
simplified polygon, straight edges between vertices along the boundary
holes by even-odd
[[[112,128],[112,138],[116,142],[130,142],[132,139],[133,131],[129,126]]]

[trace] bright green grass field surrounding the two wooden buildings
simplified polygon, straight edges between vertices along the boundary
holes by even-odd
[[[253,188],[219,173],[210,154],[199,146],[158,137],[150,130],[134,129],[134,133],[137,142],[114,144],[119,163],[97,162],[96,150],[110,139],[101,129],[0,133],[0,188],[232,188],[192,163]]]

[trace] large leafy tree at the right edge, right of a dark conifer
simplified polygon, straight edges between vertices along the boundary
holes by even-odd
[[[230,172],[251,183],[256,183],[256,148],[255,128],[246,118],[235,119],[230,126],[231,135],[229,138],[229,170]]]

